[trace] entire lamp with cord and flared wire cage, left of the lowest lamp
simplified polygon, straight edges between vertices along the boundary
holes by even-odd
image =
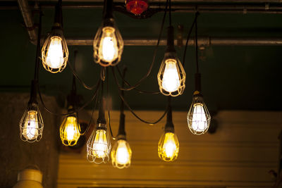
[[[104,112],[103,85],[104,81],[102,81],[101,87],[102,96],[100,99],[97,125],[87,141],[87,160],[97,164],[109,161],[109,153],[111,151],[111,140],[106,126]]]

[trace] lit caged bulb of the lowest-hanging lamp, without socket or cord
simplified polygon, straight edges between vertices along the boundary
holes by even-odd
[[[111,150],[111,162],[116,168],[128,168],[131,163],[132,151],[125,139],[118,139]]]

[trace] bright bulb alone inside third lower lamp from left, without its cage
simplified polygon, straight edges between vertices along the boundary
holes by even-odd
[[[97,158],[105,158],[109,152],[106,140],[106,130],[97,130],[93,144],[93,155]]]

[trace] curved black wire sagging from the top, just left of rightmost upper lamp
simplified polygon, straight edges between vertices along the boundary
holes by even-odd
[[[157,46],[155,46],[155,48],[154,48],[153,60],[152,60],[152,63],[151,63],[151,65],[150,65],[150,67],[149,67],[149,70],[148,70],[147,74],[144,75],[136,84],[133,84],[132,86],[130,86],[130,87],[128,87],[128,88],[120,88],[121,90],[130,91],[130,90],[132,90],[132,89],[135,89],[136,87],[139,87],[140,84],[141,84],[145,79],[147,79],[147,77],[149,77],[149,75],[151,74],[152,68],[153,68],[153,66],[154,66],[154,61],[155,61],[156,56],[157,56],[157,49],[158,49],[158,47],[159,47],[159,42],[160,42],[160,40],[161,40],[161,34],[162,34],[162,32],[163,32],[163,29],[164,29],[164,21],[166,20],[166,11],[167,11],[167,6],[168,6],[168,1],[169,1],[169,0],[166,0],[166,8],[165,8],[165,11],[164,11],[163,20],[162,20],[162,22],[161,22],[161,30],[160,30],[160,32],[159,32],[159,38],[158,38]]]

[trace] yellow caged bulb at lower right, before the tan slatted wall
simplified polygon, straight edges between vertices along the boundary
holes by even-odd
[[[165,132],[159,139],[159,158],[164,161],[174,161],[178,156],[179,142],[176,134]]]

